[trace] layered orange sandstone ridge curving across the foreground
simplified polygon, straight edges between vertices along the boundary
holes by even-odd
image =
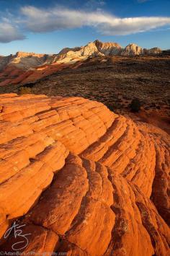
[[[0,95],[0,249],[169,255],[169,135],[81,97]]]

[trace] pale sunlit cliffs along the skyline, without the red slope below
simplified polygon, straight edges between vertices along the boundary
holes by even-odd
[[[15,55],[7,57],[0,56],[0,69],[6,65],[15,65],[20,69],[29,69],[35,66],[41,66],[45,63],[54,63],[56,61],[71,61],[73,58],[101,56],[101,55],[140,55],[140,54],[161,53],[160,48],[151,48],[150,50],[140,48],[138,45],[130,44],[122,48],[118,43],[102,43],[99,40],[88,43],[85,46],[75,48],[63,48],[58,54],[47,55],[37,53],[17,52]]]

